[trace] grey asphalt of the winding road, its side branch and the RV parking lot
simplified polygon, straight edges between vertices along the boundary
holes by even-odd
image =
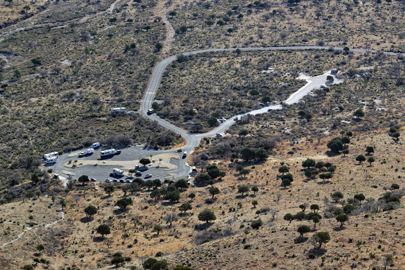
[[[206,52],[226,52],[226,51],[235,51],[236,49],[240,49],[241,51],[270,51],[270,50],[329,50],[330,47],[323,47],[323,46],[292,46],[292,47],[257,47],[257,48],[220,48],[220,49],[205,49],[205,50],[197,50],[197,51],[192,51],[192,52],[185,52],[183,53],[184,55],[194,55],[194,54],[199,54],[199,53],[206,53]],[[338,50],[343,50],[342,47],[334,47],[334,49]],[[370,53],[380,53],[375,50],[366,50],[366,49],[350,49],[352,52],[370,52]],[[405,54],[402,53],[394,53],[394,52],[381,52],[386,55],[402,55],[405,56]],[[155,113],[148,114],[147,111],[148,109],[151,108],[157,88],[160,84],[161,77],[163,75],[163,72],[165,71],[166,67],[175,61],[177,59],[177,55],[170,56],[168,58],[165,58],[158,62],[153,70],[153,73],[151,75],[151,78],[149,80],[148,87],[146,89],[146,92],[143,96],[142,103],[141,103],[141,108],[138,111],[140,114],[144,115],[146,118],[156,121],[159,125],[170,129],[174,131],[177,134],[180,134],[185,140],[186,144],[182,147],[182,150],[187,151],[187,158],[185,159],[180,159],[180,160],[175,160],[171,159],[171,163],[177,165],[177,169],[168,171],[170,173],[176,173],[175,178],[184,178],[189,175],[190,172],[190,167],[187,163],[187,159],[191,152],[194,150],[194,148],[199,144],[199,141],[201,138],[204,137],[212,137],[215,136],[217,133],[224,133],[225,130],[227,130],[231,125],[235,123],[234,119],[241,117],[241,115],[235,115],[234,117],[228,119],[212,131],[209,131],[207,133],[203,134],[193,134],[189,133],[179,127],[174,126],[173,124],[168,123],[166,120],[159,118]],[[293,104],[297,103],[302,99],[308,92],[312,91],[315,88],[319,88],[320,85],[325,85],[326,83],[326,77],[330,75],[330,71],[322,74],[320,76],[316,77],[309,77],[309,76],[304,76],[301,75],[299,78],[306,80],[308,83],[300,88],[298,91],[293,93],[287,100],[284,102],[287,104]],[[335,78],[334,83],[340,83],[339,80]],[[253,110],[248,112],[249,114],[258,114],[258,113],[265,113],[267,110],[271,109],[279,109],[281,108],[280,105],[271,105],[271,106],[265,106],[263,108]],[[144,158],[148,157],[149,153],[154,151],[154,155],[157,155],[157,153],[165,152],[164,150],[151,150],[151,149],[143,149],[139,150],[136,149],[137,147],[129,147],[129,148],[124,148],[119,156],[113,156],[111,159],[116,159],[116,160],[135,160],[139,158]],[[127,151],[128,149],[128,151]],[[169,151],[175,152],[176,149],[171,149]],[[100,149],[99,149],[100,150]],[[99,151],[98,150],[98,151]],[[97,152],[98,152],[97,151]],[[95,152],[92,156],[97,157],[98,154]],[[64,154],[59,157],[58,163],[49,166],[54,168],[54,172],[59,173],[63,175],[60,171],[65,170],[67,168],[63,167],[63,163],[68,161],[69,159],[73,158],[67,158],[68,154]],[[86,157],[82,159],[92,159],[94,160],[95,158],[92,157]],[[99,168],[100,167],[100,168]],[[71,171],[73,173],[76,173],[76,175],[81,175],[81,174],[86,174],[89,177],[94,177],[97,180],[104,181],[105,178],[110,178],[109,173],[112,171],[112,168],[110,166],[83,166],[80,168],[75,168],[75,169],[68,169],[68,171]],[[145,173],[150,173],[154,175],[151,179],[156,179],[156,178],[162,178],[164,175],[167,176],[167,173],[163,172],[162,169],[148,169]],[[162,177],[160,177],[162,176]],[[144,177],[144,176],[143,176]]]

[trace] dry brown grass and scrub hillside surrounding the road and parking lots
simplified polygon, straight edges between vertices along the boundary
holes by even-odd
[[[44,152],[71,150],[94,140],[155,146],[179,142],[177,135],[138,114],[109,115],[110,107],[139,108],[153,66],[166,56],[197,48],[302,44],[402,51],[403,1],[314,0],[287,5],[281,1],[124,0],[111,6],[114,2],[105,0],[41,2],[40,9],[38,2],[31,3],[29,15],[20,14],[25,1],[2,4],[1,18],[10,20],[1,21],[20,22],[2,29],[0,35],[0,245],[16,239],[29,225],[33,227],[0,248],[0,268],[32,264],[50,269],[107,269],[117,252],[126,258],[121,268],[133,269],[142,268],[141,263],[158,252],[162,254],[156,259],[168,260],[170,269],[177,264],[193,269],[382,269],[387,254],[393,255],[388,269],[405,267],[403,200],[378,201],[388,191],[385,187],[398,184],[394,191],[398,198],[404,188],[403,140],[389,132],[390,127],[403,130],[402,57],[331,48],[211,53],[173,63],[158,90],[157,99],[163,101],[158,114],[180,127],[199,123],[199,131],[210,129],[209,117],[228,118],[258,108],[265,96],[271,101],[285,99],[303,85],[295,80],[300,72],[319,75],[335,66],[343,71],[339,74],[343,84],[315,91],[314,96],[304,98],[304,104],[256,115],[233,125],[228,136],[202,140],[190,160],[197,165],[196,180],[209,164],[226,172],[213,183],[220,190],[214,199],[211,185],[203,183],[182,190],[179,202],[172,203],[150,198],[151,187],[131,194],[121,189],[128,186],[123,183],[114,184],[111,196],[100,183],[69,184],[64,190],[51,178],[52,171],[37,169]],[[173,43],[165,39],[168,24],[163,15],[176,30]],[[226,24],[218,25],[219,20]],[[157,43],[168,48],[157,51]],[[268,67],[275,72],[261,73]],[[366,72],[370,74],[365,78],[355,78]],[[280,87],[282,82],[288,85]],[[250,90],[259,94],[250,95]],[[231,101],[243,106],[232,108]],[[189,115],[197,106],[201,107],[198,113]],[[339,110],[333,110],[336,107]],[[376,111],[378,107],[386,110]],[[365,116],[353,118],[359,108]],[[310,121],[300,118],[300,111],[310,114]],[[287,113],[290,117],[284,117]],[[241,130],[247,134],[239,135]],[[346,131],[353,132],[349,153],[330,152],[327,143]],[[291,144],[292,139],[301,143]],[[375,152],[366,155],[366,146],[373,146]],[[265,149],[270,157],[244,162],[244,147]],[[360,154],[374,157],[375,162],[359,164],[355,158]],[[301,166],[307,158],[335,165],[333,178],[308,180]],[[286,187],[278,173],[281,164],[294,177]],[[238,165],[250,172],[239,174]],[[32,173],[38,175],[37,183],[29,180]],[[257,186],[258,191],[241,196],[240,185]],[[331,198],[336,191],[344,195],[339,203]],[[195,199],[188,197],[191,193]],[[375,202],[360,205],[353,201],[360,193]],[[116,202],[125,198],[131,198],[132,205],[120,210]],[[328,205],[325,198],[329,198]],[[258,205],[252,204],[254,200]],[[42,227],[61,218],[62,201],[67,203],[65,218]],[[192,209],[181,214],[179,206],[185,202]],[[312,221],[289,223],[283,218],[300,212],[299,205],[304,203],[320,207],[322,219],[315,230]],[[349,220],[339,227],[330,206],[348,209],[349,203],[356,209],[347,212]],[[86,218],[84,209],[89,205],[97,208],[97,214]],[[216,215],[208,224],[197,218],[206,208]],[[170,226],[166,220],[172,212],[175,220]],[[311,212],[309,207],[305,212]],[[253,229],[252,221],[259,218],[262,226]],[[104,238],[96,232],[103,223],[111,228]],[[162,226],[158,235],[153,230],[157,224]],[[304,224],[312,230],[299,238],[297,227]],[[317,232],[329,232],[331,237],[320,250],[310,242]],[[36,248],[41,244],[44,251]]]

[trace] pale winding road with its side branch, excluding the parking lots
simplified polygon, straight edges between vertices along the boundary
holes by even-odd
[[[284,46],[284,47],[247,47],[247,48],[217,48],[217,49],[204,49],[204,50],[196,50],[196,51],[191,51],[191,52],[185,52],[183,55],[194,55],[194,54],[200,54],[200,53],[208,53],[208,52],[231,52],[235,51],[237,49],[241,51],[272,51],[272,50],[329,50],[331,47],[325,47],[325,46]],[[333,47],[334,49],[337,50],[343,50],[343,47]],[[386,55],[402,55],[405,56],[403,53],[395,53],[395,52],[384,52],[384,51],[376,51],[376,50],[366,50],[366,49],[350,49],[352,52],[361,52],[361,53],[382,53]],[[201,134],[194,134],[194,133],[189,133],[181,128],[178,128],[174,126],[173,124],[168,123],[166,120],[161,119],[158,117],[155,113],[153,114],[148,114],[147,111],[148,109],[151,108],[157,88],[159,87],[163,72],[165,71],[166,67],[175,61],[177,59],[177,55],[173,55],[170,57],[167,57],[160,62],[158,62],[153,69],[152,76],[149,80],[148,87],[146,89],[146,92],[143,96],[142,102],[141,102],[141,108],[139,109],[139,113],[147,117],[148,119],[152,121],[156,121],[159,125],[170,129],[177,134],[180,134],[185,140],[186,144],[182,147],[183,150],[187,151],[188,155],[194,150],[194,148],[199,144],[199,141],[201,138],[205,137],[212,137],[215,136],[216,133],[222,133],[226,129],[228,129],[232,124],[235,123],[234,119],[237,117],[240,117],[240,115],[235,115],[231,119],[228,119],[226,122],[221,124],[220,126],[216,127],[215,129],[207,132],[207,133],[201,133]],[[325,75],[325,74],[324,74]],[[323,76],[323,75],[321,75]],[[318,76],[319,77],[319,76]],[[310,84],[311,82],[308,82]],[[319,86],[319,85],[318,85]],[[293,104],[299,101],[299,99],[302,98],[303,95],[300,95],[298,98],[293,98],[293,95],[296,95],[299,91],[295,92],[292,94],[285,102],[289,104]],[[306,93],[304,93],[305,95]],[[259,110],[251,111],[248,113],[263,113],[267,112],[268,108],[279,108],[279,105],[274,105],[270,107],[265,107]],[[187,157],[188,158],[188,157]],[[188,166],[187,164],[187,158],[182,160],[184,164],[180,164],[179,166]],[[185,177],[187,175],[177,175],[177,177]]]

